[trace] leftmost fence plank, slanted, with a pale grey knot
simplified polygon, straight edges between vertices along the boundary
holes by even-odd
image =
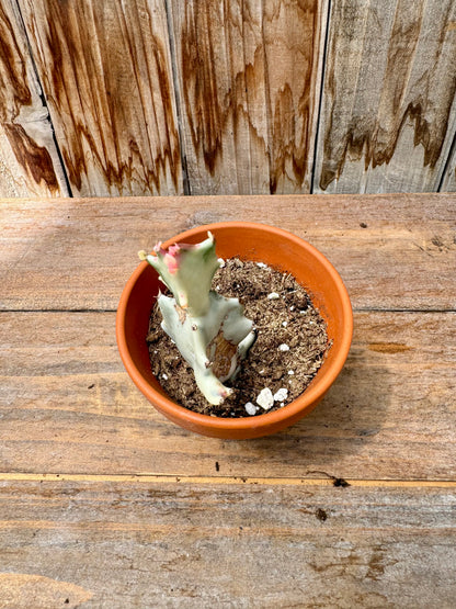
[[[66,196],[53,127],[13,0],[0,5],[0,196]]]

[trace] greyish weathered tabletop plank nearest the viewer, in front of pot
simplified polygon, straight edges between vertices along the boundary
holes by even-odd
[[[0,484],[0,607],[454,606],[454,492]]]

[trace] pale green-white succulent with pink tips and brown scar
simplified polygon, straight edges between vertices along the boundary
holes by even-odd
[[[153,253],[140,251],[139,258],[156,269],[173,294],[158,297],[161,327],[193,368],[206,399],[221,404],[232,393],[224,383],[236,376],[255,332],[238,298],[210,290],[220,267],[213,235],[208,233],[196,245],[176,244],[168,249],[159,243]]]

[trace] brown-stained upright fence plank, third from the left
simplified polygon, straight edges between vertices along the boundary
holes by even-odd
[[[169,5],[191,192],[309,192],[328,2]]]

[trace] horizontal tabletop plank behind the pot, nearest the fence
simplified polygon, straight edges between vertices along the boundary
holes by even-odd
[[[454,311],[454,195],[2,201],[1,309],[115,309],[158,239],[208,222],[264,222],[318,247],[355,308]]]

